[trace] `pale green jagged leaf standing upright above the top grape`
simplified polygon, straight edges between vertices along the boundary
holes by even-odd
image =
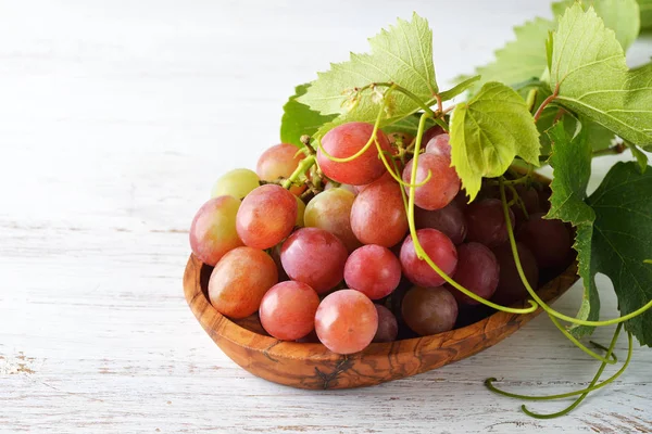
[[[349,119],[374,122],[381,98],[374,98],[373,89],[359,95],[359,88],[394,82],[424,102],[432,100],[439,89],[432,64],[432,31],[426,20],[416,14],[411,22],[399,20],[389,30],[381,30],[371,38],[369,46],[369,54],[351,53],[349,62],[331,64],[330,71],[318,73],[318,78],[308,92],[299,97],[299,102],[322,114],[348,115]],[[393,92],[388,116],[381,126],[417,110],[419,105],[415,101]]]

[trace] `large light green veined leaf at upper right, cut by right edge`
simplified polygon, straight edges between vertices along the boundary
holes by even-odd
[[[614,33],[592,8],[575,4],[554,35],[551,87],[556,102],[623,139],[652,145],[652,67],[630,72]]]

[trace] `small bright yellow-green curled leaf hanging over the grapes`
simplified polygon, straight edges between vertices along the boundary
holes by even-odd
[[[488,82],[455,106],[450,128],[451,158],[473,201],[482,177],[505,173],[516,155],[539,165],[539,131],[523,98],[500,82]]]

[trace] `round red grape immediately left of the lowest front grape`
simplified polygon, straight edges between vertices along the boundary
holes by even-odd
[[[259,316],[267,333],[277,340],[294,341],[315,327],[319,306],[317,293],[301,282],[280,282],[265,293]]]

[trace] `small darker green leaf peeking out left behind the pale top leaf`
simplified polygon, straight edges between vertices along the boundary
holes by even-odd
[[[280,119],[280,141],[301,146],[301,136],[314,135],[324,124],[333,120],[334,115],[321,115],[313,112],[305,104],[297,101],[297,98],[305,94],[309,84],[299,85],[294,88],[294,94],[283,106],[283,118]]]

